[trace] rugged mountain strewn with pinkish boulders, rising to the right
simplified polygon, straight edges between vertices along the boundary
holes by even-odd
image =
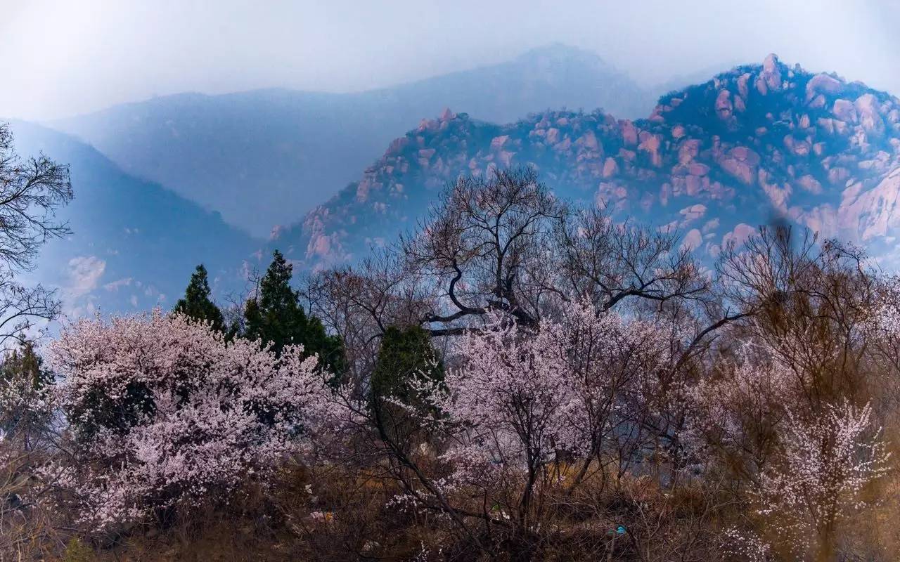
[[[896,251],[900,101],[771,55],[663,95],[649,117],[539,112],[506,125],[445,112],[274,245],[311,268],[347,263],[413,227],[460,174],[534,165],[561,197],[678,228],[714,258],[771,220]]]

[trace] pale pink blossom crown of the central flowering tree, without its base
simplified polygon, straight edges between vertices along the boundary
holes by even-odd
[[[499,313],[456,343],[436,410],[452,427],[444,484],[490,486],[563,456],[590,457],[614,442],[671,361],[653,325],[563,305],[536,329]]]

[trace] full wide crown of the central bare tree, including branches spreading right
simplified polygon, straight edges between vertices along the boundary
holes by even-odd
[[[491,309],[533,326],[548,302],[572,296],[607,310],[632,297],[663,303],[708,293],[675,233],[573,210],[532,168],[461,178],[401,248],[439,290],[422,319],[434,335],[457,334],[460,320]]]

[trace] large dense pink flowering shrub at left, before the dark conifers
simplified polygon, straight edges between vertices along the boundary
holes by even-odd
[[[98,527],[265,479],[329,417],[329,375],[301,347],[275,357],[178,315],[80,320],[50,357],[75,456],[61,477]]]

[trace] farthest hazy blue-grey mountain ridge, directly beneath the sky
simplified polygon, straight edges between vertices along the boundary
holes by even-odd
[[[125,172],[266,236],[356,179],[400,131],[446,107],[505,122],[548,107],[643,115],[653,96],[597,55],[563,45],[506,63],[357,94],[179,94],[49,125]]]

